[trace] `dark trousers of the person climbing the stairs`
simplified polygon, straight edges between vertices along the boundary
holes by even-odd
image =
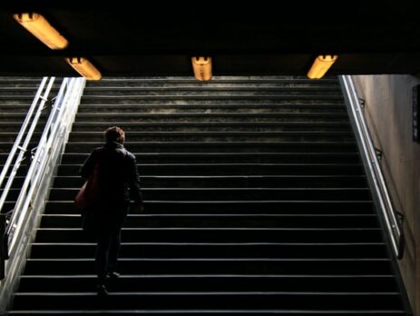
[[[103,284],[108,272],[114,272],[121,245],[121,228],[112,231],[100,230],[97,234],[96,271],[98,282]]]

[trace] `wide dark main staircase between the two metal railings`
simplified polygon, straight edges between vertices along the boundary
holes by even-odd
[[[73,197],[119,125],[142,174],[95,293]],[[406,315],[335,78],[88,83],[11,315]]]

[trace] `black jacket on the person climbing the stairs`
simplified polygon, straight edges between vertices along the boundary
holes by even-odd
[[[135,156],[120,143],[105,143],[93,150],[81,168],[83,178],[89,178],[98,163],[100,201],[103,212],[123,208],[132,199],[142,202],[140,177]]]

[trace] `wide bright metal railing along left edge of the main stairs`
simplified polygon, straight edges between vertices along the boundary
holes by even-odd
[[[0,280],[0,314],[7,309],[39,226],[41,214],[72,129],[85,84],[84,78],[65,78],[5,228],[5,278]]]

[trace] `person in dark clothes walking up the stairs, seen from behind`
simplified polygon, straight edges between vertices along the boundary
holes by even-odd
[[[96,270],[98,295],[107,295],[105,282],[117,278],[118,255],[122,224],[129,212],[130,201],[134,211],[142,212],[142,192],[135,156],[124,146],[125,133],[118,126],[104,132],[105,143],[93,149],[80,170],[89,178],[97,164],[99,201],[92,209],[93,232],[96,237]]]

